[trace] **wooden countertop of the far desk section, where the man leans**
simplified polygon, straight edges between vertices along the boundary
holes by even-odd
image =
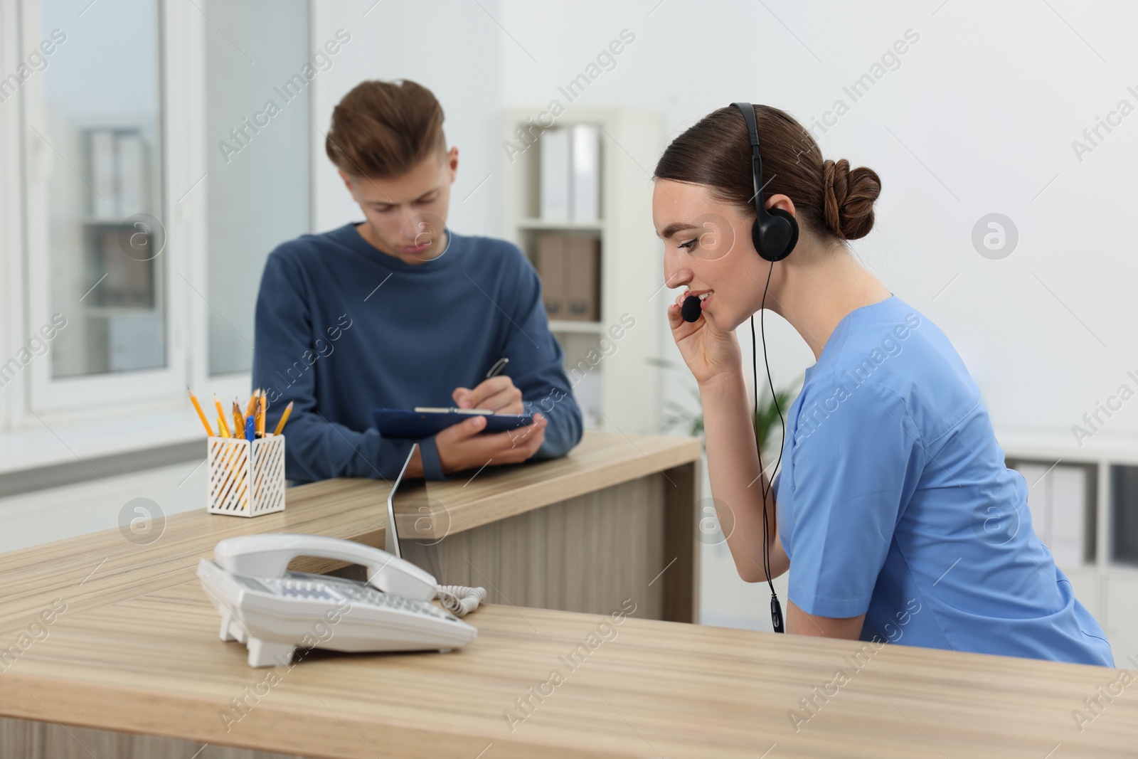
[[[487,467],[472,478],[470,472],[430,482],[428,493],[448,513],[450,531],[461,533],[658,475],[699,456],[694,438],[586,432],[561,459]],[[69,612],[180,583],[198,559],[212,556],[217,542],[226,537],[311,533],[381,547],[389,489],[384,480],[324,480],[291,488],[288,505],[279,513],[248,519],[209,514],[203,508],[166,517],[163,527],[154,530],[157,539],[146,545],[137,542],[138,536],[132,535],[132,542],[122,530],[108,529],[0,553],[0,636],[10,637],[25,628],[55,599],[63,599]],[[686,497],[694,501],[694,493]],[[312,559],[291,564],[302,571],[341,566]]]

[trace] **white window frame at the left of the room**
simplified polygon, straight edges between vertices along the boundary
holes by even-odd
[[[14,8],[14,6],[16,6]],[[27,51],[44,39],[41,28],[41,0],[5,3],[6,15],[19,30],[22,44],[5,60],[23,59]],[[79,377],[52,377],[48,356],[36,357],[18,378],[20,396],[6,398],[2,404],[8,429],[38,426],[35,419],[64,421],[89,416],[91,410],[117,415],[145,414],[156,405],[185,403],[185,387],[222,397],[248,393],[250,373],[208,374],[208,317],[206,302],[208,282],[207,240],[207,135],[206,135],[206,61],[205,33],[208,20],[193,3],[158,0],[159,50],[159,131],[162,134],[162,199],[159,215],[166,231],[166,246],[160,254],[165,288],[165,354],[162,369],[108,372]],[[75,32],[80,33],[79,25]],[[50,30],[48,30],[50,33]],[[23,230],[22,245],[7,255],[5,266],[22,270],[18,281],[25,284],[19,298],[22,315],[6,329],[7,355],[18,350],[31,331],[51,319],[51,261],[49,255],[50,199],[49,171],[71,171],[32,131],[46,133],[42,77],[32,76],[20,88],[17,117],[3,114],[5,123],[16,122],[15,140],[5,141],[8,156],[15,154],[22,171],[6,181],[3,188],[23,198],[23,207],[6,212],[18,216]],[[11,145],[15,142],[16,145]],[[53,162],[51,166],[49,162]],[[10,174],[9,174],[10,176]],[[10,209],[10,206],[9,206]],[[15,236],[8,236],[9,239]],[[6,240],[7,242],[8,240]],[[13,282],[13,279],[8,280]],[[8,289],[11,289],[10,287]],[[14,308],[15,310],[15,308]],[[6,310],[7,311],[7,310]],[[7,315],[7,313],[6,313]],[[65,314],[68,321],[72,314]],[[74,317],[79,317],[76,312]],[[26,332],[26,335],[25,335]],[[23,339],[20,339],[23,337]],[[15,389],[15,388],[10,388]],[[2,420],[0,420],[2,421]]]

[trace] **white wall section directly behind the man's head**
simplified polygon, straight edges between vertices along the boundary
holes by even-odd
[[[502,113],[502,30],[493,17],[500,16],[495,0],[314,0],[313,40],[331,39],[338,28],[352,35],[336,65],[313,82],[316,231],[363,221],[324,154],[323,135],[332,108],[363,80],[407,79],[438,98],[446,114],[446,140],[459,148],[459,175],[451,190],[447,224],[463,234],[497,234],[500,185],[494,174],[498,157],[492,146]]]

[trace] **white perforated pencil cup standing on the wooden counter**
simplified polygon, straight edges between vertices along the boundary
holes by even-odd
[[[229,437],[206,439],[209,513],[259,517],[284,511],[283,435],[266,435],[251,443]]]

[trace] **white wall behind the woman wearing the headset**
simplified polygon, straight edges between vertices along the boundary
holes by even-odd
[[[501,40],[506,107],[544,106],[626,27],[635,42],[582,107],[657,108],[678,132],[733,100],[777,106],[807,126],[835,99],[851,104],[818,134],[826,157],[882,178],[875,230],[853,248],[954,341],[997,429],[1070,436],[1096,399],[1129,381],[1127,369],[1138,370],[1130,223],[1138,114],[1081,163],[1071,148],[1120,99],[1138,107],[1127,92],[1138,91],[1138,75],[1128,76],[1138,53],[1125,34],[1138,7],[503,0],[500,20],[517,40]],[[908,28],[920,40],[899,68],[852,102],[842,86]],[[974,223],[991,212],[1020,232],[1001,261],[971,242]],[[800,378],[813,354],[777,316],[767,328],[776,386]],[[745,328],[740,338],[749,356]],[[666,345],[674,350],[670,338]],[[1104,436],[1136,432],[1138,403]]]

